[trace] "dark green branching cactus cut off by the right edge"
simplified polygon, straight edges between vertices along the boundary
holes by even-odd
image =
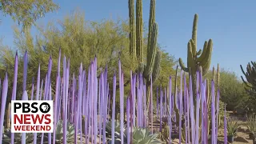
[[[242,76],[241,78],[242,78],[242,82],[246,84],[246,87],[245,87],[246,91],[256,93],[256,62],[251,62],[251,65],[249,62],[246,67],[246,70],[247,70],[246,73],[243,70],[242,65],[240,65],[242,74],[245,75],[247,82],[244,80],[244,78],[242,78]]]

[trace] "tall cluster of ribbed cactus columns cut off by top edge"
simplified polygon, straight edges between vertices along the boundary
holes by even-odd
[[[136,1],[136,25],[134,21],[134,0],[129,0],[130,55],[140,63],[138,70],[149,82],[150,74],[155,81],[160,73],[161,52],[157,47],[158,24],[155,22],[155,0],[150,1],[150,20],[147,42],[146,64],[143,57],[142,0]]]

